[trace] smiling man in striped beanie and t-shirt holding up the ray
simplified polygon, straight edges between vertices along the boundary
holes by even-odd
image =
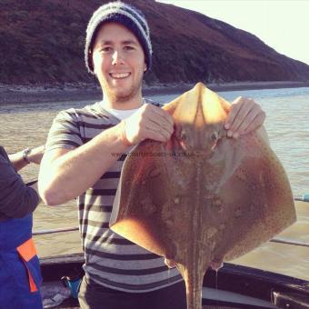
[[[142,97],[152,45],[145,16],[131,5],[102,5],[86,33],[85,64],[98,78],[103,100],[60,113],[50,130],[39,190],[46,204],[77,198],[85,251],[83,308],[186,308],[184,283],[164,259],[108,228],[123,157],[145,139],[166,142],[173,118]],[[252,100],[239,98],[227,118],[228,135],[264,121]]]

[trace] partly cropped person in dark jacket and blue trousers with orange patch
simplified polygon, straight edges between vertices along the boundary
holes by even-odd
[[[40,164],[45,146],[6,154],[0,145],[0,308],[42,308],[41,272],[32,240],[32,214],[39,204],[34,185],[17,173]]]

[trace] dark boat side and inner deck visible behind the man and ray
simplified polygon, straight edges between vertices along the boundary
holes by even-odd
[[[83,276],[83,264],[84,254],[41,259],[43,288],[61,286],[65,276],[75,281]],[[78,302],[72,296],[56,306],[74,307]],[[218,273],[209,270],[204,276],[203,308],[309,308],[309,282],[225,263]]]

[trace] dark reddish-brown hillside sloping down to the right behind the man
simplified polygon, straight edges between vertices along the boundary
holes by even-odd
[[[92,83],[84,64],[85,28],[102,0],[2,0],[0,83]],[[148,20],[154,65],[146,84],[196,81],[308,81],[309,65],[259,38],[194,11],[127,0]]]

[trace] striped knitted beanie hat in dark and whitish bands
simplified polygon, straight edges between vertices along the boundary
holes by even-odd
[[[139,43],[143,47],[145,63],[147,65],[147,70],[149,70],[152,63],[151,58],[153,49],[145,15],[132,5],[115,1],[100,6],[90,18],[85,38],[85,66],[87,67],[88,72],[95,74],[91,60],[92,48],[97,29],[105,22],[116,22],[125,25],[127,29],[135,34]]]

